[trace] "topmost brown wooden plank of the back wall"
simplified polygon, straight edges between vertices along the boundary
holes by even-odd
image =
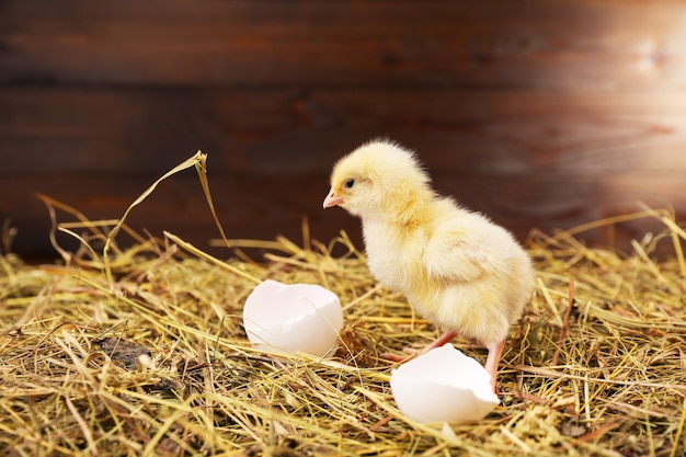
[[[684,89],[686,4],[4,0],[0,81]]]

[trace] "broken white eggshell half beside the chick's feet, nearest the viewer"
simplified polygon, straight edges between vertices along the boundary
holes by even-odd
[[[451,344],[393,369],[390,387],[400,411],[418,422],[477,422],[500,403],[488,372]]]

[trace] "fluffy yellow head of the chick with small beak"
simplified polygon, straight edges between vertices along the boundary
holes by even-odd
[[[414,153],[390,140],[377,139],[336,162],[323,207],[341,206],[365,218],[399,210],[410,201],[431,194],[428,175]]]

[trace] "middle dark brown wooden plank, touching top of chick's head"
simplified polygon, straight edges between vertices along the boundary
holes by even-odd
[[[197,149],[213,173],[328,175],[378,136],[451,173],[686,175],[685,112],[682,93],[4,88],[0,175],[155,176]]]

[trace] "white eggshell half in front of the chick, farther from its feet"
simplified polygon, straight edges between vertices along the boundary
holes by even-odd
[[[321,286],[267,279],[248,296],[243,327],[256,349],[321,357],[336,347],[343,310],[339,297]]]

